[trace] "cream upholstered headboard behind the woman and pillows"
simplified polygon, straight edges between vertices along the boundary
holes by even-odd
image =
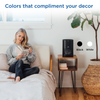
[[[9,45],[0,45],[0,53],[6,53],[7,48]],[[50,47],[49,46],[43,46],[43,45],[32,45],[33,49],[37,52],[40,63],[41,63],[41,69],[47,69],[50,68]]]

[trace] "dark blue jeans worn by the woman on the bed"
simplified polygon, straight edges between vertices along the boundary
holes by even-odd
[[[15,73],[15,78],[20,76],[20,79],[22,79],[32,74],[38,74],[39,68],[30,68],[29,64],[24,64],[23,61],[19,59],[9,67],[9,72]]]

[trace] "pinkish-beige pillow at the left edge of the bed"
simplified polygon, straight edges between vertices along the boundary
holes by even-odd
[[[8,71],[9,67],[6,54],[0,53],[0,70]]]

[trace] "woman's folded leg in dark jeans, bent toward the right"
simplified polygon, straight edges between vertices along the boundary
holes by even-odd
[[[24,64],[24,66],[26,66],[26,65]],[[29,66],[30,66],[30,65],[29,65]],[[39,71],[40,71],[40,69],[39,69],[38,67],[25,68],[25,69],[23,70],[23,77],[25,78],[25,77],[27,77],[27,76],[29,76],[29,75],[32,75],[32,74],[38,74]]]

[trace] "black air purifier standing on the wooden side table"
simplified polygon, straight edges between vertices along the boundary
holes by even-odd
[[[72,39],[63,39],[62,56],[73,57],[73,40]]]

